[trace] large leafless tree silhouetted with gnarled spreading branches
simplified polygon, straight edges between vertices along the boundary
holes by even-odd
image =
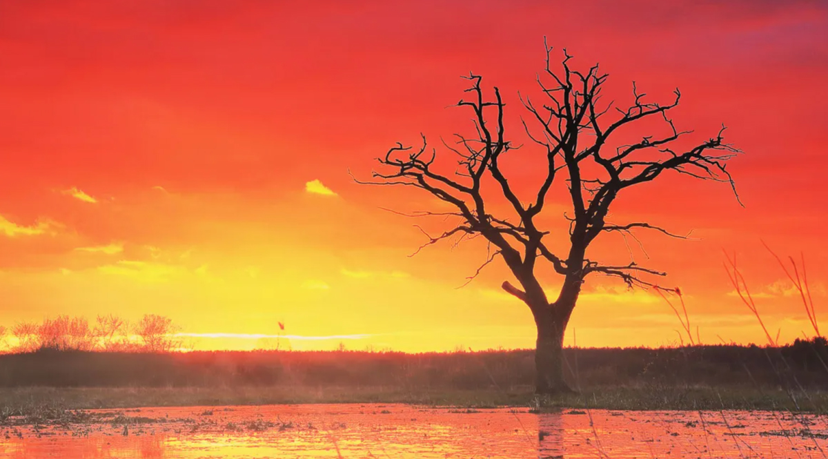
[[[620,278],[629,287],[662,288],[652,276],[664,276],[665,273],[645,268],[632,260],[629,263],[602,263],[587,256],[590,244],[608,233],[634,238],[633,232],[638,229],[683,237],[647,222],[609,223],[610,205],[626,189],[653,181],[665,175],[664,172],[723,181],[729,183],[735,193],[734,182],[725,165],[739,151],[724,143],[724,127],[715,137],[701,143],[682,146],[683,141],[676,142],[689,133],[679,131],[668,115],[681,99],[678,89],[672,101],[659,104],[646,101],[645,94],[633,84],[633,103],[627,109],[613,108],[612,103],[600,103],[608,75],[599,72],[598,65],[586,72],[575,70],[570,66],[571,56],[564,51],[561,67],[553,70],[551,47],[545,47],[546,67],[543,77],[539,75],[537,78],[543,102],[535,104],[529,98],[521,98],[534,126],[530,128],[529,123],[523,122],[527,138],[540,147],[546,157],[544,162],[532,165],[544,172],[544,178],[537,190],[532,191],[530,201],[518,196],[513,182],[503,173],[501,161],[506,153],[518,146],[506,137],[500,91],[493,88],[493,99],[487,99],[481,86],[482,77],[474,74],[465,77],[470,83],[469,89],[465,89],[469,99],[461,99],[457,104],[472,112],[474,135],[455,134],[454,145],[442,142],[457,159],[454,172],[440,171],[436,149],[429,147],[426,137],[421,134],[421,147],[397,143],[385,156],[378,158],[381,169],[373,172],[373,180],[357,181],[371,185],[412,186],[450,205],[452,210],[446,212],[403,214],[456,219],[456,225],[441,234],[426,234],[428,240],[420,249],[445,239],[455,239],[456,243],[483,236],[488,241],[490,252],[477,273],[499,257],[517,279],[520,288],[504,282],[503,289],[525,302],[532,311],[537,325],[537,392],[553,394],[570,390],[563,377],[563,336],[585,278],[590,274],[603,274]],[[642,130],[654,128],[652,120],[663,123],[659,127],[662,133],[647,132],[634,143],[619,141],[622,136],[618,133],[633,124]],[[550,238],[547,238],[551,231],[540,227],[540,215],[551,199],[553,185],[559,182],[566,184],[565,199],[571,205],[571,214],[564,214],[569,222],[568,249],[560,255],[551,249]],[[498,205],[503,200],[507,213],[495,215],[496,209],[503,208]],[[561,244],[562,240],[563,237],[556,239],[556,244]],[[538,261],[548,263],[548,268],[542,269],[551,268],[551,272],[563,278],[552,301],[538,281],[541,272],[541,268],[537,268]]]

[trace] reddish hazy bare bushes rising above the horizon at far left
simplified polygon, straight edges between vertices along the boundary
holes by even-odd
[[[178,327],[169,317],[155,314],[146,314],[135,323],[112,314],[97,316],[94,324],[85,317],[57,316],[40,323],[0,326],[0,351],[169,352],[181,347],[176,331]]]

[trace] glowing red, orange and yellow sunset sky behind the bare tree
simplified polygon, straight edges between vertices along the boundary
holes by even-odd
[[[420,132],[469,128],[467,112],[446,109],[469,70],[498,85],[515,128],[546,35],[575,65],[600,62],[620,102],[632,80],[654,98],[679,86],[680,128],[703,139],[726,123],[746,152],[729,167],[745,208],[727,186],[665,176],[613,213],[693,229],[699,240],[641,234],[650,259],[635,256],[686,292],[702,341],[763,342],[722,249],[739,254],[768,328],[783,341],[810,332],[760,239],[806,254],[824,318],[826,3],[573,5],[0,2],[0,325],[151,312],[219,334],[195,339],[205,349],[252,348],[257,336],[238,335],[276,334],[278,321],[295,349],[532,346],[528,308],[498,287],[502,266],[456,288],[484,244],[408,258],[421,233],[378,206],[434,201],[347,171],[368,176]],[[516,156],[508,170],[531,182],[534,164]],[[553,228],[565,209],[547,209]],[[594,250],[628,259],[620,238]],[[659,297],[590,278],[566,342],[575,330],[578,345],[668,345],[678,328]]]

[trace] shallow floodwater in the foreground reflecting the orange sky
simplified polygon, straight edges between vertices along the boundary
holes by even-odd
[[[7,418],[3,458],[826,457],[828,419],[773,412],[136,408]]]

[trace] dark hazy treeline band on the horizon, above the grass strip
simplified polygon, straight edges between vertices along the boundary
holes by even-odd
[[[565,350],[575,386],[647,384],[828,389],[823,337],[782,347]],[[90,352],[43,349],[0,355],[0,386],[522,389],[532,350],[404,354],[361,351]]]

